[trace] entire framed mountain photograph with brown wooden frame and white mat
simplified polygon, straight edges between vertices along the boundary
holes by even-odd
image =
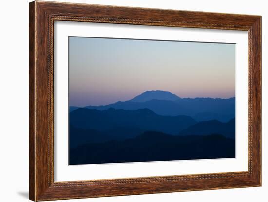
[[[29,4],[29,198],[261,186],[261,16]]]

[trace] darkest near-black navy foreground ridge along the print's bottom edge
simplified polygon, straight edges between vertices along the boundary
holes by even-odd
[[[80,145],[69,154],[71,165],[234,158],[235,140],[219,134],[172,136],[146,131],[124,141]]]

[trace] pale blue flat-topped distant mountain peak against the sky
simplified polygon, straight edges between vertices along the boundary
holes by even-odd
[[[168,91],[161,91],[161,90],[152,90],[152,91],[145,91],[142,94],[134,97],[133,99],[129,100],[131,102],[147,102],[150,100],[168,100],[168,101],[175,101],[180,99],[175,94],[172,94]]]

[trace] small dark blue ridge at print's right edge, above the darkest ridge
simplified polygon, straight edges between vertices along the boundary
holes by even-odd
[[[227,123],[222,123],[217,120],[198,122],[182,130],[179,135],[205,135],[214,133],[222,134],[229,138],[235,138],[235,119],[231,119]]]

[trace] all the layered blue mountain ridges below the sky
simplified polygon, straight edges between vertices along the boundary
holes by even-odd
[[[235,98],[146,91],[69,111],[72,165],[235,157]]]

